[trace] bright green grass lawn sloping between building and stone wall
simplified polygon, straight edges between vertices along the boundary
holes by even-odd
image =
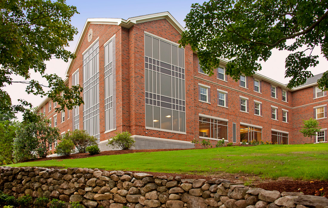
[[[258,145],[48,160],[10,166],[88,167],[187,174],[254,173],[266,178],[328,180],[328,143]]]

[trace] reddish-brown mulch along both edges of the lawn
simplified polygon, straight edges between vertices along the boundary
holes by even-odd
[[[252,146],[252,145],[238,145],[238,146]],[[193,148],[195,149],[195,148]],[[102,155],[119,155],[119,154],[127,154],[127,153],[136,153],[136,152],[158,152],[158,151],[173,151],[173,150],[185,150],[185,149],[129,149],[129,150],[110,150],[110,151],[102,151],[97,155],[89,155],[89,153],[77,153],[72,154],[70,156],[59,156],[59,157],[51,157],[51,158],[38,158],[31,159],[25,162],[32,161],[44,161],[44,160],[63,160],[63,159],[77,159],[77,158],[86,158],[86,157],[94,157],[94,156],[102,156]],[[49,168],[62,168],[62,167],[49,167]],[[176,173],[154,173],[154,172],[145,172],[145,171],[131,171],[133,173],[149,173],[154,176],[181,176],[182,179],[205,179],[210,180],[213,178],[222,178],[230,180],[231,182],[240,182],[240,181],[248,181],[252,180],[251,187],[263,188],[265,190],[273,191],[277,190],[279,192],[303,192],[304,195],[316,195],[323,196],[328,198],[328,181],[294,181],[294,180],[262,180],[258,176],[254,174],[246,174],[246,173],[217,173],[216,175],[193,175],[193,174],[176,174]],[[323,188],[322,191],[319,189]]]

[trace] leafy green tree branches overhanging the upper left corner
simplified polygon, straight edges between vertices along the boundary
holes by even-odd
[[[83,103],[80,97],[82,88],[69,88],[57,75],[45,74],[45,61],[75,58],[64,47],[69,46],[69,41],[77,34],[77,29],[70,22],[78,12],[76,7],[65,3],[65,0],[0,0],[0,88],[26,83],[29,94],[49,96],[58,102],[58,111]],[[30,80],[31,70],[40,73],[48,83],[44,85]],[[21,76],[23,81],[13,80],[12,75]],[[10,95],[0,89],[0,113],[29,112],[25,107],[31,108],[31,104],[20,101],[20,105],[12,105]],[[25,116],[27,118],[29,115]]]

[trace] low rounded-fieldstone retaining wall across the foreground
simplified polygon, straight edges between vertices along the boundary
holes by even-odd
[[[101,171],[88,168],[0,167],[0,188],[15,197],[30,195],[78,201],[88,208],[328,208],[328,199],[266,191],[224,179]]]

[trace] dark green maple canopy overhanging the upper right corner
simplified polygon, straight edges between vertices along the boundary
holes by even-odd
[[[261,70],[258,61],[267,61],[272,49],[288,50],[285,78],[292,78],[287,87],[293,88],[313,76],[307,68],[318,64],[315,47],[328,59],[327,16],[327,0],[211,0],[192,5],[180,44],[197,51],[200,66],[210,75],[218,58],[231,60],[226,74],[236,81]],[[328,72],[318,83],[328,88]]]

